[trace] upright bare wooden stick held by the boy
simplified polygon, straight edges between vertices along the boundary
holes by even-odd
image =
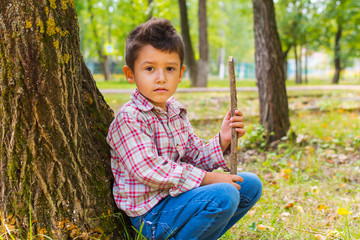
[[[230,81],[230,102],[231,102],[231,117],[235,116],[235,110],[237,109],[237,97],[236,97],[236,82],[234,72],[234,59],[229,57],[228,61],[229,81]],[[235,128],[231,129],[231,154],[230,154],[230,174],[237,174],[237,146],[238,138]]]

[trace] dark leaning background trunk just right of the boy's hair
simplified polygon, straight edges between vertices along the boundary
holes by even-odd
[[[179,0],[181,17],[181,35],[185,44],[185,63],[189,70],[191,86],[197,86],[197,62],[195,60],[194,50],[191,44],[189,21],[186,7],[186,0]]]

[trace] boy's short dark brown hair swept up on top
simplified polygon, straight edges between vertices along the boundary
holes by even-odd
[[[169,20],[151,18],[131,31],[125,45],[125,61],[131,70],[139,51],[147,44],[164,52],[178,53],[183,65],[184,43]]]

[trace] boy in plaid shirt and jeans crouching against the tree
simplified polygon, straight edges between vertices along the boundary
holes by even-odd
[[[186,109],[172,95],[185,66],[184,44],[165,19],[150,19],[126,41],[124,74],[136,84],[131,101],[110,125],[117,206],[147,239],[217,239],[259,200],[255,174],[230,175],[223,153],[231,128],[245,134],[242,114],[226,114],[206,145],[194,134]]]

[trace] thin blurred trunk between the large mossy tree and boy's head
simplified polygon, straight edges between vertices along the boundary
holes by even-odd
[[[88,6],[88,10],[90,13],[90,22],[91,22],[92,31],[94,34],[94,41],[95,41],[96,49],[98,52],[98,58],[100,61],[101,68],[103,70],[103,74],[104,74],[104,80],[108,81],[111,79],[111,73],[110,73],[110,68],[109,68],[109,63],[108,63],[108,56],[104,54],[103,44],[101,43],[101,38],[96,30],[96,22],[94,20],[95,14],[92,10],[92,4],[94,4],[94,3],[90,1],[89,6]]]

